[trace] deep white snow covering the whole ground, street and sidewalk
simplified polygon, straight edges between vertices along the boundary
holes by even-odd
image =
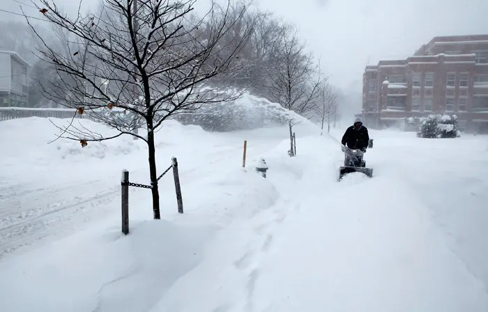
[[[168,123],[159,171],[178,157],[185,214],[164,177],[162,220],[132,189],[124,236],[120,173],[148,183],[143,142],[46,145],[45,119],[0,123],[1,310],[488,311],[487,138],[371,131],[374,178],[338,183],[342,130],[319,133],[297,125],[290,158],[287,127]]]

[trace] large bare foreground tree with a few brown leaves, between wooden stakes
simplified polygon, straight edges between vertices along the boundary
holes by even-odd
[[[118,134],[104,137],[72,122],[59,126],[63,131],[59,137],[79,140],[82,146],[123,134],[145,141],[153,216],[160,219],[154,132],[175,114],[241,95],[234,89],[204,83],[239,70],[235,59],[252,26],[242,24],[243,36],[232,42],[231,48],[221,39],[236,23],[243,23],[247,6],[241,7],[240,14],[231,15],[231,0],[227,7],[211,3],[204,17],[195,18],[196,0],[105,0],[100,13],[82,16],[78,12],[70,19],[54,2],[40,2],[40,13],[73,40],[67,45],[70,54],[65,56],[36,33],[43,42],[40,54],[59,74],[59,79],[51,82],[53,92],[45,96],[118,130]],[[146,135],[133,131],[141,122]]]

